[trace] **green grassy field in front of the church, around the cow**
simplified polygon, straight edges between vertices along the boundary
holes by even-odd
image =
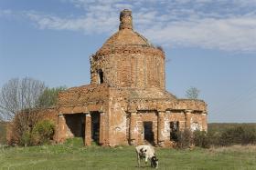
[[[159,169],[256,169],[256,145],[193,150],[156,148]],[[143,164],[144,165],[144,164]],[[141,169],[152,169],[148,165]],[[0,169],[140,169],[133,146],[65,145],[1,148]]]

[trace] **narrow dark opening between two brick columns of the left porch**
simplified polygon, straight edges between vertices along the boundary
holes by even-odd
[[[91,113],[91,139],[97,145],[100,144],[100,113]]]

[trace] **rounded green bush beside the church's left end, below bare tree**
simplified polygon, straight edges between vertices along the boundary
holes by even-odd
[[[34,145],[49,144],[54,135],[54,124],[51,121],[43,120],[38,122],[32,131]]]

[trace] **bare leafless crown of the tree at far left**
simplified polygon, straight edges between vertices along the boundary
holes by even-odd
[[[43,82],[33,78],[9,80],[0,93],[0,117],[12,120],[21,111],[35,109],[45,88]]]

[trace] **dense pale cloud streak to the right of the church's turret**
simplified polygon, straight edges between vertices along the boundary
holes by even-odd
[[[145,35],[159,44],[198,46],[226,51],[256,51],[256,17],[176,22],[146,29]]]

